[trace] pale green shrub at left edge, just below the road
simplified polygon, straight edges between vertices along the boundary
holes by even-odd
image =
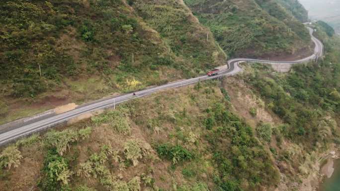
[[[6,147],[0,155],[0,167],[7,168],[18,167],[22,159],[21,153],[15,145]]]

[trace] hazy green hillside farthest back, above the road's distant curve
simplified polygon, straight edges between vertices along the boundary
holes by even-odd
[[[184,0],[230,56],[268,57],[309,50],[308,31],[274,0]]]

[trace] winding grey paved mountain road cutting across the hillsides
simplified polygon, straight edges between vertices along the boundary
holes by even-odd
[[[55,127],[55,126],[67,123],[70,119],[73,119],[85,113],[113,107],[114,103],[119,104],[119,103],[128,101],[130,99],[147,96],[149,94],[152,94],[160,90],[181,87],[181,86],[197,83],[203,80],[218,78],[221,76],[234,75],[242,71],[242,68],[239,66],[239,63],[242,63],[242,62],[256,62],[256,63],[266,63],[266,64],[299,64],[299,63],[304,63],[304,62],[308,62],[311,60],[315,60],[317,59],[317,57],[321,57],[323,55],[323,44],[317,38],[313,36],[313,29],[311,28],[308,28],[308,29],[310,31],[312,40],[316,46],[315,46],[314,54],[307,58],[304,58],[298,61],[292,61],[292,62],[274,62],[274,61],[243,59],[243,58],[232,59],[228,61],[228,67],[227,67],[228,69],[221,70],[220,73],[215,76],[203,75],[203,76],[198,76],[198,77],[191,78],[191,79],[184,79],[184,80],[172,82],[166,85],[161,85],[158,87],[141,90],[139,92],[136,92],[135,96],[132,94],[126,94],[126,95],[118,96],[115,98],[110,98],[107,100],[97,101],[92,104],[84,105],[80,108],[71,110],[69,112],[65,112],[63,114],[54,115],[54,116],[45,117],[45,118],[38,118],[36,120],[23,122],[19,125],[15,125],[15,127],[13,126],[13,127],[7,128],[5,131],[1,131],[0,132],[1,133],[0,134],[0,145],[4,145],[20,137],[27,136],[27,135],[30,135],[35,132],[39,132],[47,128],[51,128],[51,127]]]

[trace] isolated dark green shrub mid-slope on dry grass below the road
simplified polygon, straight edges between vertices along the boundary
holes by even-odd
[[[169,143],[160,144],[156,148],[158,154],[162,157],[172,160],[172,164],[177,164],[181,161],[191,160],[193,154],[180,145],[170,145]]]

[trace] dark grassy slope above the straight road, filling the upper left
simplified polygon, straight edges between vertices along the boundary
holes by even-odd
[[[175,1],[162,5],[169,10],[163,13],[173,11],[178,16],[175,33],[168,35],[156,24],[172,27],[174,19],[159,15],[151,21],[124,0],[49,2],[0,3],[6,10],[0,13],[0,69],[4,71],[0,98],[1,105],[7,106],[0,115],[4,121],[25,116],[27,111],[32,115],[41,107],[82,103],[112,92],[191,77],[226,59],[213,38],[206,40],[208,30]],[[148,1],[139,3],[152,6]]]

